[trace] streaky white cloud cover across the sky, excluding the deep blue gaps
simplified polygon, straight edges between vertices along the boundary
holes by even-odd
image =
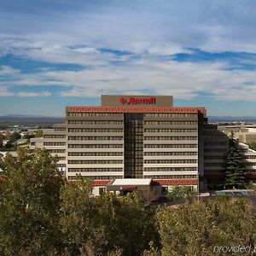
[[[256,3],[148,0],[88,5],[84,1],[77,8],[73,4],[67,8],[65,3],[65,11],[44,5],[37,15],[11,9],[0,13],[0,56],[89,67],[79,71],[42,68],[24,74],[2,66],[0,76],[8,79],[0,80],[0,95],[8,95],[11,86],[55,85],[67,87],[61,96],[150,91],[192,99],[207,92],[215,99],[255,101],[255,71],[229,70],[225,61],[170,61],[166,55],[189,52],[187,48],[256,53]],[[20,26],[14,22],[17,18]],[[132,54],[102,53],[99,48]],[[245,61],[255,63],[253,58]],[[17,95],[49,96],[21,89]]]

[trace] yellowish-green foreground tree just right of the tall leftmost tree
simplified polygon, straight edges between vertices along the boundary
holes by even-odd
[[[102,254],[106,244],[106,226],[102,208],[90,196],[91,181],[78,179],[61,189],[61,231],[68,255]]]

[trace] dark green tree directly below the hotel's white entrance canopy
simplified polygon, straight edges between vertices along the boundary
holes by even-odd
[[[158,223],[155,207],[144,204],[143,198],[136,192],[119,199],[119,204],[112,202],[113,224],[109,241],[113,246],[123,249],[124,255],[141,255],[149,249],[149,242],[160,246]]]

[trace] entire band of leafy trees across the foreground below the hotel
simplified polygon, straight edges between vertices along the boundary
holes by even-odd
[[[1,255],[216,255],[213,246],[256,243],[247,201],[173,209],[136,193],[92,197],[90,181],[67,183],[55,164],[44,149],[0,158]]]

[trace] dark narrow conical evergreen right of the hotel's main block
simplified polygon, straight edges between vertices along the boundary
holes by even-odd
[[[234,132],[230,136],[230,148],[226,154],[225,161],[225,183],[235,188],[244,187],[246,182],[246,166],[241,149],[234,137]]]

